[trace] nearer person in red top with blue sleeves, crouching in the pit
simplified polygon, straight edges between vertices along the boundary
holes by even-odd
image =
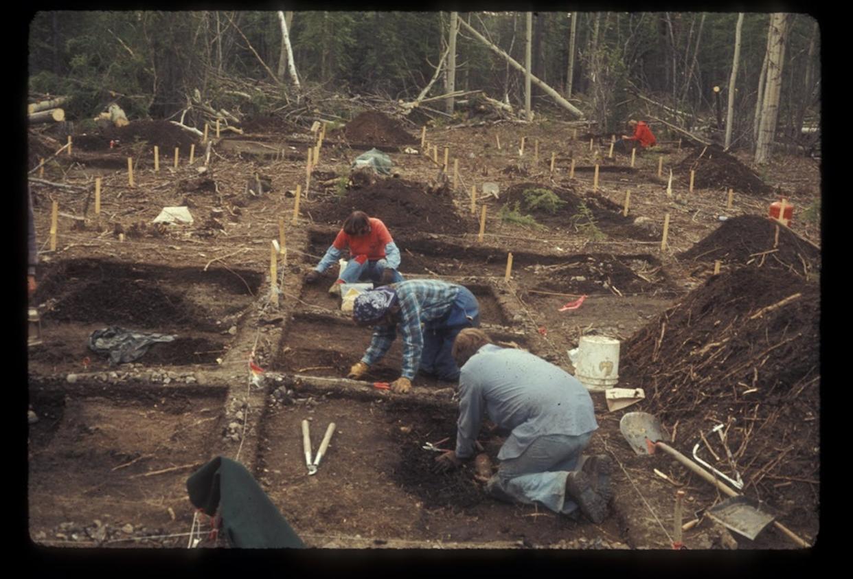
[[[403,281],[397,271],[400,266],[400,250],[394,244],[385,223],[369,217],[364,211],[353,211],[344,221],[344,227],[328,247],[326,255],[316,267],[305,275],[306,283],[315,283],[344,253],[350,251],[350,260],[338,274],[338,280],[329,287],[331,294],[340,294],[340,286],[357,281],[373,281],[384,286]]]

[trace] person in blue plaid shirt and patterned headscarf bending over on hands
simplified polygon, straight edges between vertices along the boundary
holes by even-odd
[[[479,304],[466,287],[438,280],[409,280],[378,287],[358,296],[353,320],[374,326],[373,339],[348,378],[359,379],[379,362],[397,338],[403,336],[403,368],[392,391],[403,394],[420,369],[438,379],[456,380],[459,367],[451,355],[456,334],[479,327]]]

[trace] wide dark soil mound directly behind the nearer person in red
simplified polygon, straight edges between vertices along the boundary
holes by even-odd
[[[311,211],[322,223],[339,225],[352,211],[377,217],[391,229],[418,229],[430,233],[461,234],[468,225],[456,215],[450,197],[429,194],[424,187],[403,179],[386,178],[366,188],[351,189]]]

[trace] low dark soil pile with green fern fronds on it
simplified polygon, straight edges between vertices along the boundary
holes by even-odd
[[[525,191],[528,189],[548,189],[565,205],[560,206],[554,213],[550,213],[542,207],[531,209],[525,202]],[[548,227],[572,228],[572,217],[580,215],[583,206],[591,211],[595,226],[609,236],[630,237],[635,240],[652,241],[659,237],[648,229],[635,226],[633,217],[623,217],[622,208],[611,200],[607,200],[598,194],[586,195],[584,197],[572,193],[569,189],[555,188],[551,185],[542,185],[534,182],[523,182],[509,187],[501,194],[500,203],[508,210],[514,210],[518,203],[518,211],[522,215],[531,215],[537,223]],[[588,223],[588,220],[579,219],[578,224]]]

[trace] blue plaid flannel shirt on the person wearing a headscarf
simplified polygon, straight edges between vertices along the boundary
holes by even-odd
[[[450,312],[459,288],[455,283],[438,280],[410,280],[392,284],[397,290],[400,306],[396,326],[376,326],[362,362],[379,362],[397,338],[397,328],[403,335],[403,378],[414,379],[421,365],[424,340],[421,325],[438,321]]]

